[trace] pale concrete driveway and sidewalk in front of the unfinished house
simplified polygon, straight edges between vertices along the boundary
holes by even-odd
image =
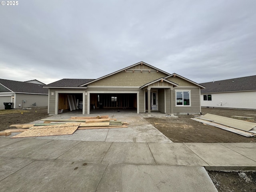
[[[0,192],[217,192],[206,169],[256,169],[255,143],[172,143],[138,114],[120,118],[129,130],[0,136]]]

